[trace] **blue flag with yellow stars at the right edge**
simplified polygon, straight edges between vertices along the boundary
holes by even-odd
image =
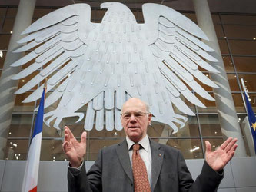
[[[256,117],[255,117],[254,111],[251,108],[251,103],[248,100],[248,97],[245,93],[244,93],[244,98],[245,98],[246,108],[248,112],[249,124],[251,126],[251,135],[254,139],[254,151],[256,153]]]

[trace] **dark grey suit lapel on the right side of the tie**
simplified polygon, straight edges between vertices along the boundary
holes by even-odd
[[[164,151],[161,151],[160,145],[155,141],[151,141],[151,157],[152,157],[152,184],[151,191],[154,191],[155,185],[158,181],[158,177],[161,171],[161,165],[163,163]]]

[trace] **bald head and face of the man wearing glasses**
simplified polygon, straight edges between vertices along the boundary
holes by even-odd
[[[141,141],[147,134],[150,122],[151,114],[147,113],[146,106],[140,99],[131,98],[123,105],[121,124],[131,141]]]

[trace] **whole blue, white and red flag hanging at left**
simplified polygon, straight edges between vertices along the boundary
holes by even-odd
[[[25,168],[25,174],[22,184],[22,192],[36,192],[38,186],[38,170],[42,141],[42,125],[44,117],[45,88],[42,92],[38,115],[35,119],[35,128],[32,136],[32,142],[28,150],[28,160]]]

